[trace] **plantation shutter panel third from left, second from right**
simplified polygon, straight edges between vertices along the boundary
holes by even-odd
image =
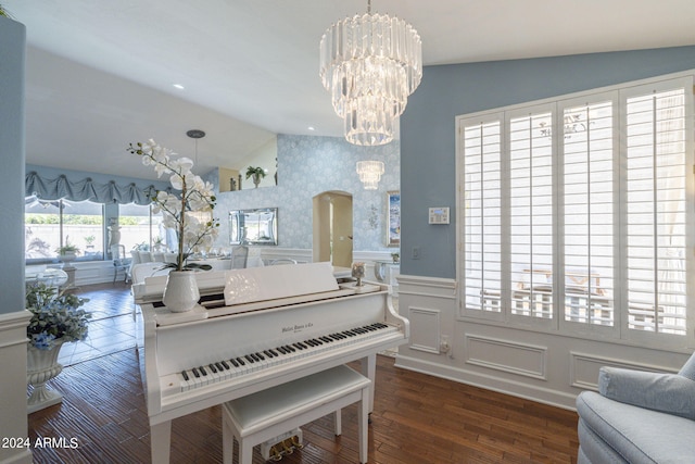
[[[615,325],[612,100],[564,110],[565,321]]]

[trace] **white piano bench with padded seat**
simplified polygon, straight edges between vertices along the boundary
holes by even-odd
[[[348,366],[338,366],[262,390],[222,405],[223,463],[232,464],[235,438],[239,464],[251,464],[253,447],[290,429],[357,405],[359,462],[367,462],[369,388],[371,381]]]

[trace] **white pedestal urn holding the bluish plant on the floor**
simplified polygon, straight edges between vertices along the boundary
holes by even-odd
[[[30,343],[27,344],[26,381],[34,386],[27,400],[29,414],[63,401],[62,393],[46,388],[46,383],[63,371],[63,366],[58,363],[62,346],[63,342],[59,342],[50,350],[39,350]]]

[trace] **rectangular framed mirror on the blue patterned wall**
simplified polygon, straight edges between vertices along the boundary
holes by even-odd
[[[278,209],[229,212],[230,244],[278,244]]]

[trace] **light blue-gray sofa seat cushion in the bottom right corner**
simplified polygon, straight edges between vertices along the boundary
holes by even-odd
[[[593,391],[577,397],[577,412],[589,430],[629,463],[695,462],[695,422],[691,419],[612,401]],[[580,436],[586,457],[606,462],[591,455],[601,447],[586,442],[586,436]]]

